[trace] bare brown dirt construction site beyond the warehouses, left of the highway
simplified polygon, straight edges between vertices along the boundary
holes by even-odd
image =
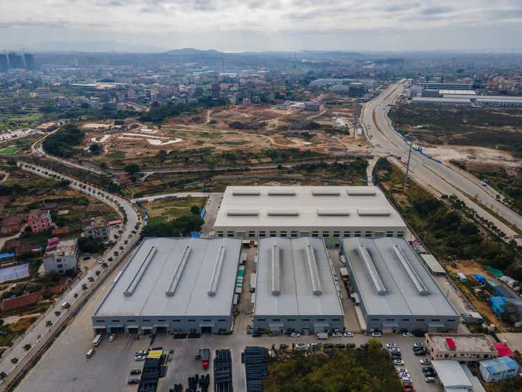
[[[346,127],[335,127],[333,118],[341,118]],[[103,152],[97,159],[109,161],[192,148],[213,148],[214,153],[298,148],[329,155],[365,154],[369,150],[363,137],[354,137],[352,123],[349,104],[319,112],[255,104],[190,113],[161,127],[128,120],[124,125],[85,123],[82,129],[88,133],[85,148],[102,144]]]

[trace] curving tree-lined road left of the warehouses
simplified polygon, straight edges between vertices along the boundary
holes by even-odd
[[[42,175],[45,177],[49,177],[49,175],[61,175],[59,173],[50,171],[47,168],[42,168],[40,166],[35,166],[33,164],[26,164],[26,163],[20,163],[19,166],[23,165],[24,170],[31,171],[32,173],[35,173],[37,175]],[[47,173],[47,174],[45,174]],[[92,196],[94,198],[97,198],[101,201],[104,201],[104,203],[107,203],[114,207],[118,213],[121,214],[119,207],[122,207],[122,209],[125,211],[125,214],[127,216],[127,223],[122,228],[122,234],[116,241],[116,244],[111,249],[108,249],[104,255],[104,260],[107,260],[110,256],[114,256],[114,251],[121,252],[122,249],[126,249],[127,246],[129,246],[128,242],[129,240],[134,237],[134,235],[139,234],[133,234],[132,231],[135,229],[136,224],[140,221],[139,215],[136,213],[134,208],[132,207],[132,204],[126,201],[125,199],[119,198],[118,196],[114,196],[111,194],[107,194],[105,191],[101,191],[100,189],[96,189],[95,187],[90,187],[89,185],[86,185],[82,182],[79,182],[77,180],[74,180],[73,178],[69,178],[66,175],[61,175],[62,178],[70,180],[71,185],[73,189],[77,189],[79,191],[84,192],[85,194],[88,194],[89,196]],[[107,260],[107,262],[109,262]],[[29,352],[26,352],[23,349],[23,346],[26,344],[30,344],[31,346],[34,346],[36,343],[40,341],[40,339],[47,338],[45,335],[49,331],[49,327],[47,326],[47,322],[50,321],[52,324],[55,324],[56,321],[60,317],[64,317],[65,313],[67,312],[66,309],[61,308],[61,304],[63,304],[65,301],[69,304],[74,304],[75,301],[78,301],[81,299],[81,296],[84,292],[84,288],[82,286],[89,287],[93,283],[95,283],[96,279],[100,279],[99,276],[96,275],[96,272],[100,271],[100,276],[102,273],[102,266],[97,264],[95,268],[88,270],[84,276],[81,277],[81,279],[74,281],[72,287],[70,290],[65,292],[65,294],[60,298],[56,300],[56,305],[49,308],[49,310],[45,313],[43,317],[40,317],[40,320],[35,322],[29,329],[29,331],[26,332],[26,334],[23,336],[23,338],[19,338],[17,340],[16,344],[11,347],[10,350],[3,353],[1,362],[0,362],[0,372],[6,372],[10,373],[16,366],[11,362],[11,359],[17,358],[19,360],[22,360],[24,356],[27,354],[33,354],[32,350],[29,350]],[[90,280],[92,279],[93,282]],[[108,283],[105,283],[108,284]],[[74,295],[77,295],[77,297],[74,297]],[[60,312],[60,314],[57,316],[55,312]]]

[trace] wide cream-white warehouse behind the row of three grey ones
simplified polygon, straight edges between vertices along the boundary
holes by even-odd
[[[406,224],[378,187],[227,187],[219,237],[404,237]],[[337,240],[335,240],[336,242]]]

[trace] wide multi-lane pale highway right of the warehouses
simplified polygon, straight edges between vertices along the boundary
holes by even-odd
[[[406,84],[404,83],[390,86],[374,100],[367,102],[361,114],[361,123],[376,155],[381,157],[387,155],[399,156],[402,158],[401,161],[395,159],[395,162],[400,164],[400,166],[408,158],[409,143],[393,130],[393,126],[388,118],[388,105],[395,102],[397,97],[404,91],[405,86]],[[503,217],[503,219],[522,229],[522,217],[519,214],[497,201],[491,191],[482,187],[480,180],[468,173],[462,173],[461,170],[448,164],[448,162],[440,164],[434,159],[430,159],[413,150],[411,153],[410,173],[414,180],[436,196],[443,194],[457,196],[484,219],[493,222],[508,237],[516,235],[516,231],[494,217],[487,210],[484,210],[474,200],[475,198],[482,205],[486,205],[500,217]],[[522,242],[519,241],[519,244],[522,244]]]

